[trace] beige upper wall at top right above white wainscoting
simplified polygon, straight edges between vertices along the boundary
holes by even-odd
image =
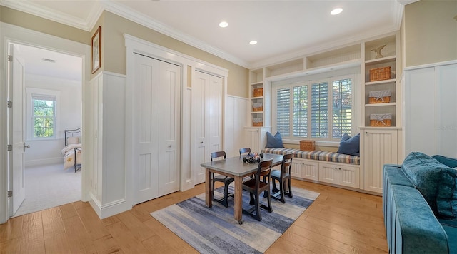
[[[457,1],[421,0],[405,6],[405,64],[457,59]]]

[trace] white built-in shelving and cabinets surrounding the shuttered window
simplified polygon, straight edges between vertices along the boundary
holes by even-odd
[[[355,113],[360,116],[356,123],[361,132],[361,164],[351,165],[342,163],[326,163],[321,161],[294,158],[292,176],[294,178],[329,183],[336,186],[361,189],[372,193],[382,191],[382,170],[384,163],[399,163],[398,158],[403,158],[401,137],[403,126],[402,118],[402,92],[400,82],[400,37],[399,32],[392,32],[364,39],[347,46],[321,51],[308,56],[298,56],[288,61],[283,61],[262,68],[253,68],[250,71],[250,112],[248,119],[250,126],[246,127],[246,143],[256,147],[264,142],[266,136],[250,138],[256,127],[256,122],[261,119],[262,126],[271,129],[271,83],[283,80],[296,81],[299,78],[318,73],[339,71],[347,68],[360,68],[360,78],[354,82],[354,91],[358,96],[354,99]],[[383,46],[385,45],[385,46]],[[375,49],[383,46],[378,56]],[[377,57],[378,56],[378,57]],[[373,68],[390,67],[391,75],[378,81],[370,81],[370,70]],[[357,75],[356,75],[357,76]],[[357,76],[358,77],[358,76]],[[263,88],[263,96],[254,96],[254,89]],[[370,103],[371,91],[391,91],[388,103]],[[262,111],[257,111],[254,106],[263,103]],[[371,114],[391,114],[391,126],[372,127]],[[249,138],[248,138],[249,137]],[[393,152],[398,156],[393,156]]]

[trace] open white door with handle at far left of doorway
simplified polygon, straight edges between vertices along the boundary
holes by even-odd
[[[19,56],[15,45],[9,46],[9,91],[12,108],[9,109],[9,190],[13,191],[9,199],[9,216],[13,216],[25,198],[24,152],[26,149],[24,130],[24,61]]]

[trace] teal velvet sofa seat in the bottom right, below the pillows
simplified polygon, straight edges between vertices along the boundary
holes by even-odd
[[[448,235],[421,193],[408,186],[391,186],[396,213],[398,253],[448,253]],[[401,243],[401,244],[400,244]]]

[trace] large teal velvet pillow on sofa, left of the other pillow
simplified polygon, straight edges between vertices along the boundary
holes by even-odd
[[[438,214],[436,198],[441,173],[451,168],[424,153],[412,152],[406,156],[401,169],[422,193],[433,212]]]

